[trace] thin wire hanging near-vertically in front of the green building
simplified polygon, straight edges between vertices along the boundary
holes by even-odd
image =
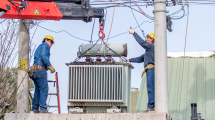
[[[187,1],[187,25],[186,25],[186,34],[185,34],[185,44],[184,44],[184,57],[183,57],[183,66],[182,66],[182,77],[181,77],[181,90],[180,90],[180,99],[179,99],[179,110],[178,110],[178,120],[180,115],[180,105],[181,105],[181,93],[182,93],[182,83],[184,77],[184,58],[185,58],[185,50],[186,50],[186,43],[187,43],[187,29],[188,29],[188,21],[189,21],[189,3]]]

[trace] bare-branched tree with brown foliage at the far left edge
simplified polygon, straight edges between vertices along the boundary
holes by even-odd
[[[9,19],[0,19],[0,120],[4,113],[16,111],[16,92],[18,72],[19,24]],[[32,46],[32,42],[30,42]],[[32,56],[32,55],[31,55]],[[31,57],[29,57],[31,58]],[[17,62],[15,61],[17,60]],[[34,90],[29,80],[29,91]],[[29,99],[32,102],[31,99]]]

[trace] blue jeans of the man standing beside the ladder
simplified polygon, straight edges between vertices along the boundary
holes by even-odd
[[[35,86],[32,111],[39,111],[39,107],[40,111],[46,111],[46,100],[48,96],[47,73],[45,69],[37,69],[36,71],[37,74],[35,72],[32,76]]]

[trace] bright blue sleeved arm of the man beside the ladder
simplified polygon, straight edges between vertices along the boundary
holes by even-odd
[[[43,62],[46,64],[46,66],[50,66],[51,63],[49,61],[49,57],[50,57],[50,47],[48,46],[48,44],[43,44],[41,46],[41,57],[43,59]]]

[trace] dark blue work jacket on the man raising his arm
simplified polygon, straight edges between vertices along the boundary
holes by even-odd
[[[145,54],[141,55],[140,57],[131,58],[130,62],[142,63],[144,62],[144,67],[148,64],[154,65],[154,44],[147,43],[143,40],[137,33],[134,33],[134,38],[136,41],[146,50]]]

